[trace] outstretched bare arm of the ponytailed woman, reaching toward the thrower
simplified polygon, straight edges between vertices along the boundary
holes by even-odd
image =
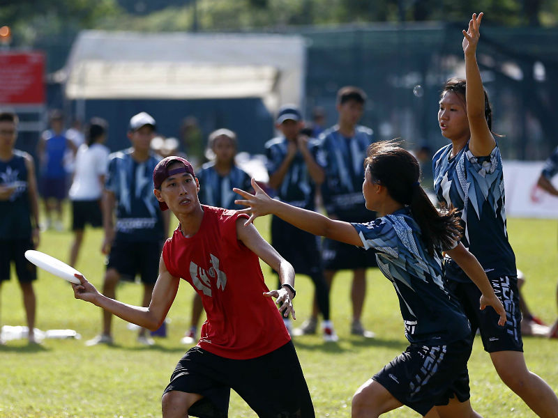
[[[320,213],[312,212],[312,210],[296,208],[287,203],[271,199],[253,178],[252,187],[254,187],[255,194],[244,192],[241,189],[233,189],[234,192],[244,198],[244,200],[236,200],[234,203],[248,206],[241,212],[251,214],[246,224],[259,216],[273,214],[303,231],[363,247],[359,233],[349,222],[334,221]]]

